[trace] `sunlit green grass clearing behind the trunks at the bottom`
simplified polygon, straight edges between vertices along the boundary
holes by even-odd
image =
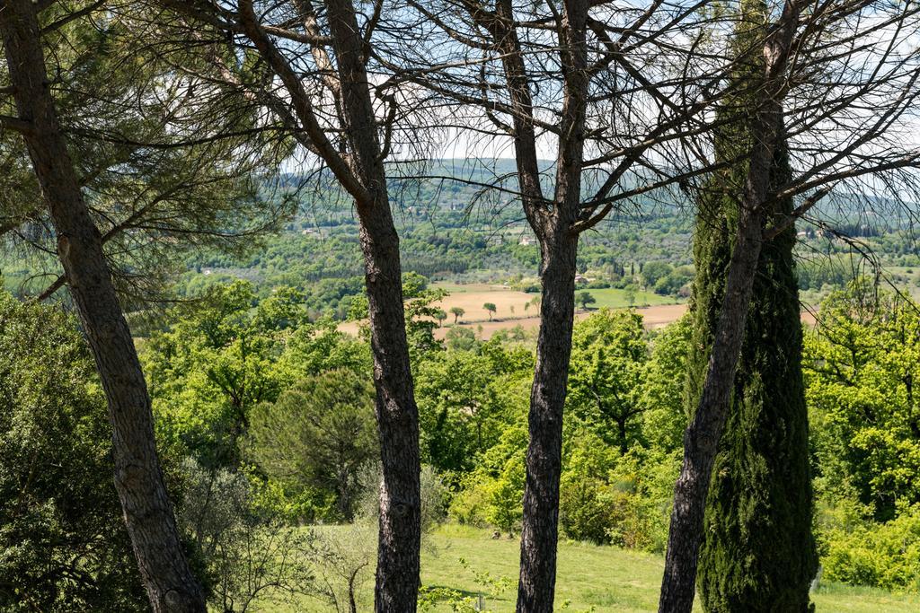
[[[493,613],[514,610],[520,546],[517,539],[492,539],[487,530],[446,525],[431,535],[429,543],[431,547],[422,553],[423,585],[448,588],[474,599],[482,594],[485,610]],[[657,610],[664,568],[661,556],[579,542],[561,542],[558,551],[556,610],[571,613]],[[363,586],[365,596],[372,588],[373,577]],[[920,610],[918,596],[848,585],[822,585],[812,594],[812,600],[819,613],[913,613]],[[319,613],[328,609],[314,600],[305,600],[295,607],[268,606],[258,610]],[[433,610],[447,613],[452,608],[443,604]],[[698,602],[694,610],[701,610]]]

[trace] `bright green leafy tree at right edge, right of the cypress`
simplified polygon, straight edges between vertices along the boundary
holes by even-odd
[[[889,521],[920,504],[920,317],[913,302],[857,280],[822,303],[805,376],[822,497]]]

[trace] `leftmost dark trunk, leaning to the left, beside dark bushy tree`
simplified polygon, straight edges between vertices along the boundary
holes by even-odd
[[[54,108],[35,5],[0,2],[0,31],[19,117],[31,124],[26,144],[58,255],[109,401],[115,486],[147,595],[156,613],[204,611],[163,483],[144,373]]]

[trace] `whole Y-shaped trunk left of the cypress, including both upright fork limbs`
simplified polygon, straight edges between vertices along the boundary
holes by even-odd
[[[502,6],[503,11],[500,11]],[[511,3],[506,1],[497,6],[497,13],[504,27],[510,27],[513,32]],[[556,186],[550,208],[543,208],[539,185],[530,186],[530,177],[539,176],[533,125],[515,119],[519,183],[521,192],[529,195],[529,198],[524,198],[524,211],[540,241],[540,285],[543,291],[528,414],[530,440],[523,494],[518,613],[551,613],[556,594],[562,418],[569,383],[579,237],[574,226],[581,213],[581,170],[584,165],[589,83],[587,19],[586,0],[564,3],[559,38],[560,58],[566,70],[559,133],[565,136],[558,144]],[[525,117],[530,117],[529,86],[516,40],[512,51],[515,52],[505,60],[508,83],[516,90],[512,99],[515,106],[526,113]]]

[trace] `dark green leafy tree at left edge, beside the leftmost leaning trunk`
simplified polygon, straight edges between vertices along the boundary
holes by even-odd
[[[75,322],[0,292],[0,352],[0,608],[146,610]]]

